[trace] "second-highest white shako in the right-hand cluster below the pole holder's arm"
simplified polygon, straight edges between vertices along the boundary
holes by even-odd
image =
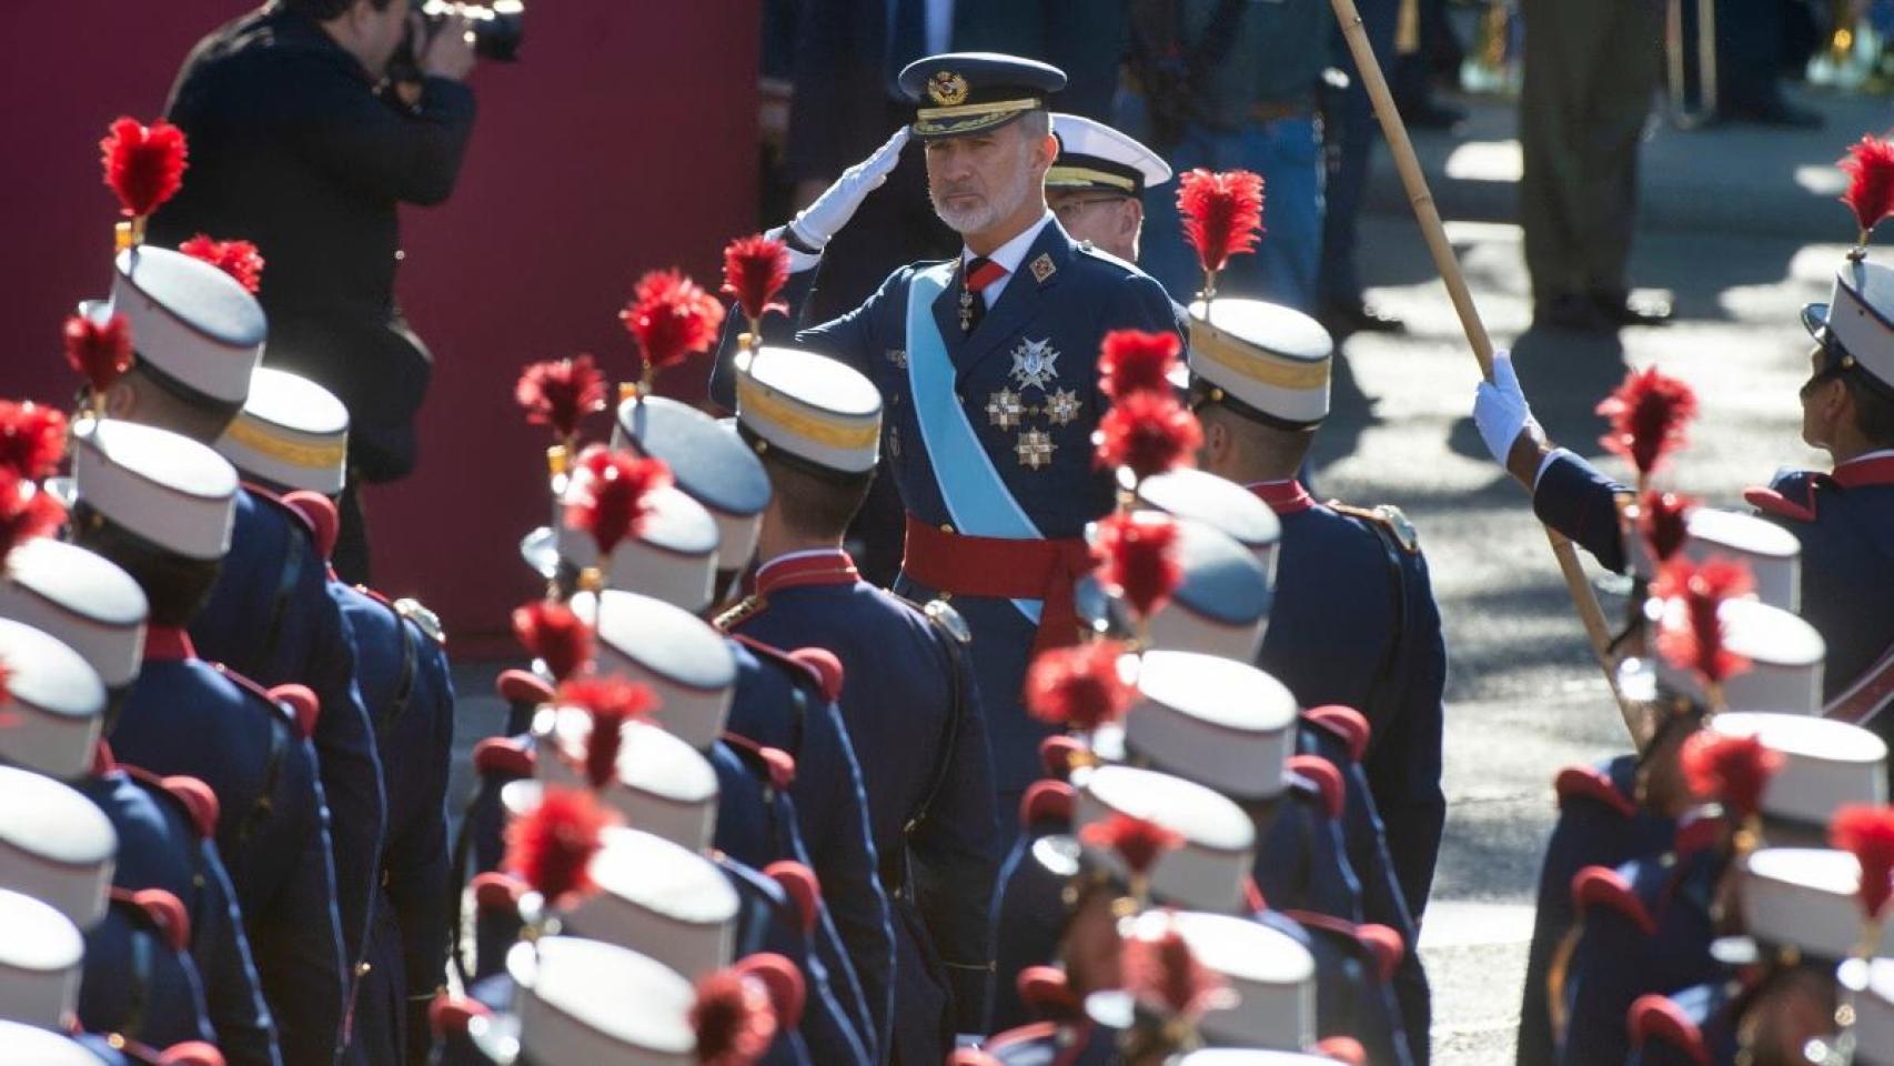
[[[1652,600],[1646,615],[1663,612],[1680,617],[1680,600]],[[1724,623],[1724,646],[1750,661],[1746,670],[1724,682],[1725,710],[1765,710],[1780,714],[1820,714],[1822,661],[1828,646],[1801,617],[1761,600],[1724,600],[1716,608]],[[1655,655],[1657,682],[1693,701],[1708,699],[1693,670],[1672,666]]]

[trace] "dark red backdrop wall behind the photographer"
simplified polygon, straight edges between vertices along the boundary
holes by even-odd
[[[246,8],[8,11],[0,394],[72,396],[59,322],[110,280],[97,142],[119,114],[157,115],[189,45]],[[714,288],[722,242],[756,225],[758,0],[528,0],[527,15],[523,61],[474,76],[455,197],[403,218],[400,295],[438,365],[419,471],[367,494],[377,583],[439,610],[462,653],[496,648],[534,591],[515,545],[545,519],[545,439],[513,409],[519,365],[589,350],[631,377],[616,314],[633,278],[676,265]],[[674,373],[667,392],[699,390],[699,371]]]

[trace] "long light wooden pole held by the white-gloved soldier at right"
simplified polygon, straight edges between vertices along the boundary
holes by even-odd
[[[1426,174],[1420,172],[1420,159],[1415,155],[1413,140],[1407,138],[1407,125],[1402,123],[1402,115],[1394,108],[1388,80],[1381,74],[1375,49],[1367,44],[1367,28],[1362,27],[1362,13],[1354,8],[1354,0],[1333,0],[1333,6],[1335,21],[1341,23],[1343,36],[1349,40],[1349,51],[1354,55],[1358,78],[1367,87],[1367,98],[1373,102],[1375,115],[1381,119],[1381,131],[1388,138],[1388,151],[1394,155],[1394,167],[1400,170],[1402,186],[1407,189],[1407,203],[1413,204],[1415,220],[1420,223],[1420,237],[1426,239],[1428,252],[1434,254],[1434,269],[1439,271],[1439,280],[1447,284],[1447,299],[1453,301],[1453,311],[1460,316],[1460,329],[1466,331],[1466,341],[1474,346],[1481,377],[1492,381],[1492,337],[1487,335],[1487,324],[1479,320],[1479,309],[1474,307],[1474,293],[1466,288],[1460,259],[1453,254],[1453,244],[1447,240],[1447,227],[1441,223],[1439,208],[1434,204],[1434,193],[1428,191]],[[1559,560],[1559,572],[1564,576],[1564,587],[1572,595],[1572,606],[1578,608],[1578,619],[1585,625],[1591,653],[1597,657],[1599,668],[1604,670],[1604,682],[1612,687],[1612,697],[1617,699],[1619,714],[1625,716],[1625,729],[1631,731],[1633,740],[1642,744],[1642,731],[1631,714],[1631,706],[1625,704],[1623,695],[1617,691],[1617,678],[1612,672],[1612,629],[1604,623],[1604,610],[1599,606],[1599,596],[1593,595],[1591,583],[1578,564],[1572,542],[1551,526],[1546,526],[1546,540],[1551,542],[1551,553]]]

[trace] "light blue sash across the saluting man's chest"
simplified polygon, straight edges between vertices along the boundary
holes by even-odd
[[[907,390],[920,420],[934,483],[947,504],[953,528],[962,534],[1044,540],[992,468],[974,424],[966,420],[966,407],[955,396],[953,360],[934,324],[934,301],[953,282],[953,275],[955,263],[941,263],[917,271],[907,284]],[[1040,623],[1038,600],[1013,600],[1013,606],[1032,625]]]

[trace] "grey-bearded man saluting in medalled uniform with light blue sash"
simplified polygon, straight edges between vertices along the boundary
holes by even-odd
[[[1064,85],[1061,70],[949,53],[900,81],[919,102],[915,123],[782,231],[799,269],[788,293],[799,307],[822,244],[884,180],[909,131],[919,136],[934,210],[966,240],[960,256],[898,269],[867,303],[795,339],[883,396],[883,451],[907,507],[896,591],[951,598],[972,629],[994,786],[1011,810],[1045,735],[1021,706],[1027,663],[1036,644],[1074,640],[1081,532],[1112,507],[1110,473],[1091,460],[1099,343],[1176,320],[1157,282],[1072,240],[1045,208],[1059,155],[1045,95]],[[737,405],[733,362],[727,335],[710,381],[725,407]]]

